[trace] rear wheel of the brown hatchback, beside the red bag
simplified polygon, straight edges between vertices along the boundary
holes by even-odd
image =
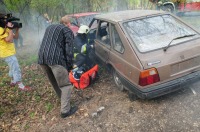
[[[117,88],[120,91],[124,91],[124,85],[122,84],[122,82],[121,82],[121,80],[119,78],[119,75],[117,74],[117,72],[115,71],[115,69],[112,69],[112,76],[113,76],[114,83],[117,86]]]

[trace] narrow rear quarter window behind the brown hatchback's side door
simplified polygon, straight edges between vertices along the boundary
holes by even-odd
[[[111,31],[112,31],[113,48],[116,51],[123,53],[124,52],[124,46],[122,44],[122,41],[119,37],[119,34],[118,34],[115,26],[113,24],[111,25]]]

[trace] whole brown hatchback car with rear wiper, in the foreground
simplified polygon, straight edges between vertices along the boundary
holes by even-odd
[[[101,14],[90,27],[95,54],[120,90],[148,99],[200,79],[200,33],[168,12]]]

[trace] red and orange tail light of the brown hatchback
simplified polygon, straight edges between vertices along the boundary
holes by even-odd
[[[146,86],[160,81],[156,68],[147,69],[140,72],[139,85]]]

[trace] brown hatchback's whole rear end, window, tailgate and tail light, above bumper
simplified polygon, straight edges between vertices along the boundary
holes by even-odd
[[[177,17],[152,15],[127,20],[122,27],[143,68],[140,86],[164,83],[200,69],[200,34]]]

